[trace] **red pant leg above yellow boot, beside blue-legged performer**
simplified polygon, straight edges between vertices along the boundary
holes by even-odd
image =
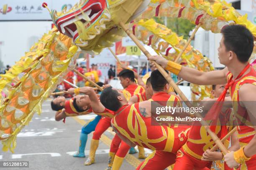
[[[111,118],[102,117],[95,128],[92,139],[100,140],[102,133],[104,133],[109,127],[111,127]]]

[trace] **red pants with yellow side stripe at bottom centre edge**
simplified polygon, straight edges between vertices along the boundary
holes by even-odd
[[[176,154],[155,150],[146,158],[136,170],[164,170],[175,163]]]

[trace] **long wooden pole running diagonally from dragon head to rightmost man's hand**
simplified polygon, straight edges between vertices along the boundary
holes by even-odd
[[[143,45],[141,45],[141,43],[138,41],[138,39],[128,30],[128,28],[126,28],[125,24],[123,22],[120,22],[119,25],[126,32],[126,34],[133,40],[133,42],[135,42],[135,44],[141,49],[141,51],[146,55],[146,57],[148,57],[148,58],[151,57],[151,54],[145,49],[145,47],[143,47]],[[184,93],[179,89],[179,87],[175,84],[175,82],[172,80],[172,78],[164,70],[164,68],[161,67],[159,64],[157,64],[155,61],[151,61],[151,62],[154,63],[154,65],[156,65],[156,68],[159,70],[159,72],[161,72],[161,74],[169,82],[169,84],[172,85],[174,90],[182,98],[182,100],[185,102],[185,104],[188,107],[193,107],[192,104],[188,101],[187,97],[184,95]],[[227,154],[228,153],[227,148],[225,148],[223,143],[221,143],[221,141],[217,137],[217,135],[210,130],[209,126],[207,125],[207,122],[205,120],[203,120],[202,116],[198,112],[195,112],[195,116],[198,118],[201,118],[200,123],[202,124],[202,126],[205,127],[205,130],[207,130],[207,132],[211,136],[212,140],[216,143],[216,145],[218,145],[218,147],[224,154]]]

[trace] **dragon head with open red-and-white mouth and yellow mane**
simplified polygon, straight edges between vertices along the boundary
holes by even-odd
[[[118,23],[127,23],[146,9],[150,0],[80,0],[69,11],[51,10],[56,28],[72,38],[82,50],[101,52],[125,33]],[[46,5],[43,4],[44,7]]]

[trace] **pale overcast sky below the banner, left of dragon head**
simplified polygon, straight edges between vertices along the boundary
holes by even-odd
[[[52,22],[0,22],[0,57],[4,65],[13,65],[29,51]]]

